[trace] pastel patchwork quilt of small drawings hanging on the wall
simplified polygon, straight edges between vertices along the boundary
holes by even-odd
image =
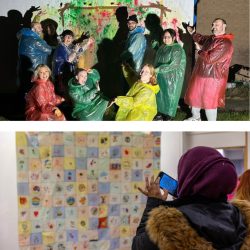
[[[20,250],[129,250],[159,132],[17,132]]]

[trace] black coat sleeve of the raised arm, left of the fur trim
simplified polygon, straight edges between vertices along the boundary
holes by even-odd
[[[148,220],[148,213],[155,207],[157,207],[162,200],[157,198],[148,198],[147,206],[141,218],[140,225],[137,228],[136,236],[133,239],[132,250],[159,250],[150,239],[146,231],[146,224]]]

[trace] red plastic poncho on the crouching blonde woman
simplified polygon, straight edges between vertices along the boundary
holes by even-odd
[[[26,120],[66,121],[63,113],[61,118],[55,115],[56,105],[62,102],[62,98],[55,94],[53,83],[41,79],[33,81],[35,84],[26,98]]]

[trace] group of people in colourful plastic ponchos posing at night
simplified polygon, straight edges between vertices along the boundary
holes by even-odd
[[[145,28],[138,23],[136,15],[127,19],[129,32],[120,54],[123,94],[112,99],[100,90],[97,70],[76,67],[78,55],[95,42],[94,38],[83,33],[74,40],[73,32],[64,30],[56,43],[56,27],[49,23],[42,39],[42,26],[36,20],[31,29],[22,29],[18,33],[19,78],[23,96],[27,93],[26,120],[66,120],[57,107],[61,102],[73,105],[72,117],[81,121],[103,120],[105,111],[114,103],[117,121],[171,120],[182,91],[185,51],[176,40],[175,30],[166,29],[162,45],[152,42],[152,48],[157,47],[154,65],[145,62]],[[211,36],[202,36],[195,28],[187,27],[199,55],[185,96],[193,114],[188,121],[200,121],[200,109],[205,109],[208,120],[214,121],[217,107],[225,106],[233,52],[233,35],[226,35],[225,29],[226,22],[220,18],[214,20]]]

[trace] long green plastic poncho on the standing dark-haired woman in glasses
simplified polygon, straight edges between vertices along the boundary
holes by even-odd
[[[174,117],[185,76],[185,51],[178,43],[163,44],[157,51],[154,66],[160,86],[160,92],[156,95],[157,110]]]

